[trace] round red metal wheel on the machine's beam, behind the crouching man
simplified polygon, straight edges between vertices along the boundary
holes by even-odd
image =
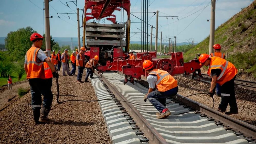
[[[174,63],[170,59],[161,59],[157,62],[156,68],[172,74],[174,70]]]

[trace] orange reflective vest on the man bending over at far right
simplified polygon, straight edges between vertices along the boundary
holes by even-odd
[[[212,57],[208,69],[208,75],[211,76],[212,69],[221,69],[221,73],[217,76],[217,83],[223,85],[224,83],[233,79],[237,74],[237,68],[229,61],[219,58]]]

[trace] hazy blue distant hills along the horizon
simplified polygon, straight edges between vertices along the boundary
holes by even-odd
[[[4,39],[5,37],[0,37],[0,44],[5,44],[4,43]],[[69,45],[71,46],[71,38],[64,38],[64,37],[52,37],[52,39],[54,39],[55,41],[57,41],[59,43],[59,46],[63,46],[63,45]],[[73,47],[77,47],[78,46],[78,38],[76,37],[73,37],[72,38],[73,40]],[[81,45],[83,43],[82,41],[82,38],[80,38],[81,41]],[[141,41],[130,41],[130,43],[137,43],[137,44],[141,44]],[[180,45],[188,45],[189,43],[188,42],[182,42],[182,43],[177,43],[177,46],[180,46]],[[155,42],[152,42],[152,45],[155,45]],[[160,42],[158,42],[158,45],[160,45]],[[169,43],[166,43],[166,42],[162,42],[162,45],[169,45]]]

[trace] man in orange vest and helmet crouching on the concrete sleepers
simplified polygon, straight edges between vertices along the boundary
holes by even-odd
[[[146,102],[148,99],[158,110],[159,113],[156,113],[156,118],[168,117],[171,113],[165,107],[165,99],[177,94],[177,80],[167,71],[154,69],[154,64],[150,60],[143,62],[143,69],[148,73],[147,82],[149,85],[148,93],[144,96],[144,101]],[[156,88],[155,91],[154,88]]]

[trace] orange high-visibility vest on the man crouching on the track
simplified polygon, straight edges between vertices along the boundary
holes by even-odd
[[[165,92],[178,86],[177,80],[167,71],[153,69],[150,73],[157,76],[156,88],[159,92]]]

